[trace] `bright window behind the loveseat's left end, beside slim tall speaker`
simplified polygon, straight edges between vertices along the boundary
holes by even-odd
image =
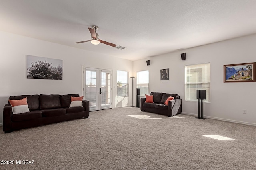
[[[140,96],[145,96],[149,94],[148,90],[149,84],[149,71],[138,71],[137,72],[137,88],[140,88]]]

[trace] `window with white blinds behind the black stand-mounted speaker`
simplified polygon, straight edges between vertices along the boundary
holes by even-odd
[[[210,63],[185,66],[185,100],[197,101],[196,90],[205,89],[205,102],[210,102]]]

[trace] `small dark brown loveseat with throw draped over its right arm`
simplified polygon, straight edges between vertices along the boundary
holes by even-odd
[[[169,117],[182,112],[182,100],[178,94],[151,92],[150,95],[153,95],[154,103],[146,103],[146,98],[141,98],[141,111],[158,113]],[[164,102],[170,96],[174,97],[174,100],[168,101],[168,105],[165,105]]]

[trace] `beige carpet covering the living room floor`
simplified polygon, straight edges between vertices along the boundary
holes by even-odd
[[[255,170],[256,127],[183,114],[170,118],[134,107],[107,109],[90,112],[88,119],[8,134],[0,127],[0,160],[15,161],[1,164],[1,170]]]

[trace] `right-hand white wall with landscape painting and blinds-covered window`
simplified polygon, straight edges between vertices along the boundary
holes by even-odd
[[[185,65],[211,64],[211,102],[204,103],[204,117],[256,125],[256,82],[223,82],[223,65],[256,62],[256,34],[133,62],[133,72],[149,70],[150,92],[179,94],[182,113],[197,115],[197,102],[185,101]],[[186,52],[186,60],[180,54]],[[160,69],[169,68],[169,80],[160,81]],[[247,110],[247,114],[243,114]]]

